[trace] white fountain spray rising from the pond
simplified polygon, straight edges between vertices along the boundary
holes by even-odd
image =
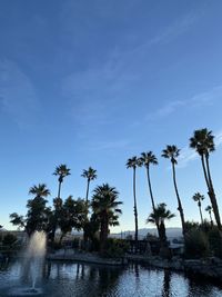
[[[29,288],[16,288],[11,296],[36,296],[41,295],[41,288],[37,288],[37,281],[41,278],[43,260],[46,256],[46,234],[34,231],[24,251],[24,259],[21,268],[21,277],[31,283]]]

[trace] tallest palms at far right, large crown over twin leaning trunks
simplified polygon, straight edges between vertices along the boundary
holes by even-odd
[[[195,149],[195,151],[200,155],[201,157],[201,164],[203,168],[203,174],[208,187],[208,194],[211,200],[211,205],[213,208],[214,217],[216,225],[220,230],[222,230],[221,226],[221,218],[219,214],[219,207],[218,207],[218,201],[213,188],[213,182],[211,178],[211,172],[210,172],[210,164],[209,164],[209,158],[210,154],[215,150],[214,146],[214,136],[212,135],[212,131],[209,131],[206,128],[195,130],[193,132],[193,137],[190,138],[190,147]]]

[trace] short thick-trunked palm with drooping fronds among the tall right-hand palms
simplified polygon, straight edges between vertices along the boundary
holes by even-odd
[[[167,235],[165,235],[165,220],[170,220],[175,217],[174,214],[172,214],[169,209],[165,208],[165,204],[159,204],[155,208],[154,211],[152,211],[148,219],[147,222],[152,222],[157,224],[160,226],[160,241],[162,246],[167,245]]]

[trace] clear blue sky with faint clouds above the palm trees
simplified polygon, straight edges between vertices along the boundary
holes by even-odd
[[[132,170],[127,159],[152,150],[153,192],[176,217],[165,145],[181,157],[178,186],[186,219],[199,220],[191,197],[206,196],[189,138],[215,135],[212,176],[221,206],[222,2],[147,0],[0,0],[0,222],[26,214],[29,188],[46,182],[57,195],[56,166],[71,176],[62,197],[84,197],[82,169],[98,170],[91,189],[115,186],[121,226],[134,228]],[[206,197],[204,207],[209,204]],[[151,211],[144,169],[138,170],[139,228]],[[222,209],[221,209],[222,211]]]

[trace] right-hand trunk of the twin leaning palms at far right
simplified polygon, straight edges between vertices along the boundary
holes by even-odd
[[[212,182],[212,179],[211,179],[209,156],[205,156],[205,162],[206,162],[206,170],[208,170],[209,186],[210,186],[209,196],[210,196],[210,199],[211,199],[211,205],[212,205],[212,208],[213,208],[213,214],[214,214],[214,217],[215,217],[216,225],[218,225],[219,229],[222,231],[219,207],[218,207],[218,202],[216,202],[215,192],[214,192],[214,189],[213,189],[213,182]]]

